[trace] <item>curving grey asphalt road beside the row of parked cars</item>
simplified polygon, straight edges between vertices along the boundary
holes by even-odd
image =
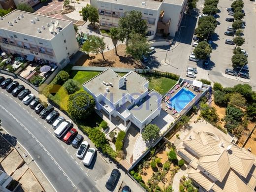
[[[67,155],[61,142],[38,123],[39,116],[24,110],[27,106],[19,103],[17,98],[0,92],[2,126],[29,151],[55,189],[58,192],[98,192],[95,181]]]

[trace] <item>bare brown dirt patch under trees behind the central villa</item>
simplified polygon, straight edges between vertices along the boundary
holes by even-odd
[[[83,55],[75,65],[77,66],[104,66],[104,67],[120,67],[120,68],[146,68],[142,63],[134,64],[131,56],[126,54],[126,45],[120,44],[117,46],[117,53],[115,49],[104,53],[106,61],[102,59],[101,54],[90,54],[90,57]],[[138,63],[138,62],[137,62]]]

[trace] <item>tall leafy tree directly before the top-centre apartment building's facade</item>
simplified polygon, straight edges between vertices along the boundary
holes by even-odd
[[[120,29],[120,40],[124,42],[126,39],[126,44],[131,38],[132,32],[144,36],[148,30],[147,21],[142,19],[142,13],[136,10],[125,12],[125,15],[119,18],[118,26]]]

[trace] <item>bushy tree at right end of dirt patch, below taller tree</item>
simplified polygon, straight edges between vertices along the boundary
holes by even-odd
[[[132,32],[126,47],[126,53],[134,58],[134,63],[149,53],[149,44],[142,34]]]

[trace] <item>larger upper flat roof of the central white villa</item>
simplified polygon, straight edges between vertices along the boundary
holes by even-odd
[[[130,71],[124,77],[126,77],[126,86],[119,88],[119,81],[122,77],[108,68],[84,83],[83,86],[95,96],[99,96],[100,94],[105,96],[113,104],[122,99],[124,95],[131,95],[136,99],[148,91],[145,87],[148,80],[137,74],[135,71]],[[113,86],[106,86],[103,84],[103,81],[105,83],[112,83]],[[109,91],[107,91],[106,88],[108,88]]]

